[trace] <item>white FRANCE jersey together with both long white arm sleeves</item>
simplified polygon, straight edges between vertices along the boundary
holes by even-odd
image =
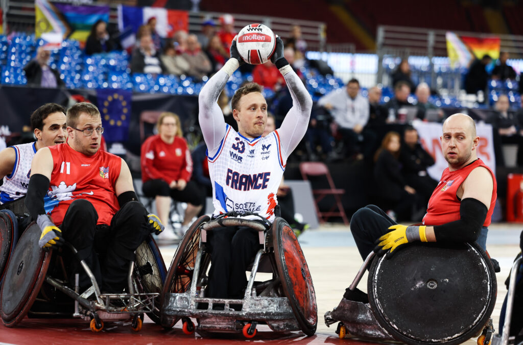
[[[290,65],[280,68],[292,97],[292,108],[281,126],[265,137],[247,139],[225,124],[217,100],[238,67],[229,59],[200,91],[199,122],[207,144],[214,214],[251,211],[274,220],[276,192],[287,157],[309,125],[312,99]]]

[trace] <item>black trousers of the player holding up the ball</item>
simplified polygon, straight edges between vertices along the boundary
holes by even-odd
[[[214,229],[208,233],[211,247],[208,297],[243,298],[245,271],[259,248],[258,232],[245,226]]]

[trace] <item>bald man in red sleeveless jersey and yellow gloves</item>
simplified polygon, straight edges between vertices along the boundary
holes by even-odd
[[[485,249],[497,185],[492,170],[477,158],[480,137],[476,135],[474,120],[465,114],[453,114],[443,123],[440,140],[448,168],[429,199],[423,225],[396,224],[374,205],[353,215],[350,230],[363,259],[372,250],[383,255],[413,241],[476,241]],[[347,289],[344,297],[364,302],[366,294]]]

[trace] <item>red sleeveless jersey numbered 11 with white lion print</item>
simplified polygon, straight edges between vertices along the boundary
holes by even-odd
[[[62,224],[74,200],[86,199],[98,213],[97,224],[110,225],[112,216],[120,209],[115,183],[120,175],[121,158],[101,150],[86,156],[67,143],[49,146],[49,149],[53,171],[44,202],[54,224]]]

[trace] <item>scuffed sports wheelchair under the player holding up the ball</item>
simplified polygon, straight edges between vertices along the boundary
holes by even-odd
[[[256,219],[240,218],[245,216]],[[206,288],[212,256],[207,235],[218,228],[247,226],[258,231],[260,248],[252,264],[243,299],[208,298]],[[258,272],[272,279],[256,281]],[[256,335],[258,324],[272,330],[302,330],[312,336],[317,326],[314,287],[305,257],[289,224],[274,223],[250,212],[229,212],[217,218],[201,216],[181,241],[167,273],[161,296],[161,323],[170,328],[181,318],[183,331],[191,334],[241,331]],[[223,305],[221,310],[213,306]],[[197,326],[190,317],[196,318]]]

